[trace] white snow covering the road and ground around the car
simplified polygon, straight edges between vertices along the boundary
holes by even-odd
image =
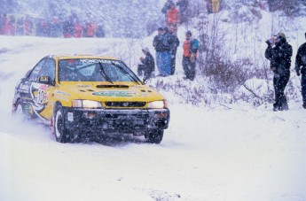
[[[39,59],[56,53],[118,57],[114,48],[129,44],[0,36],[0,49],[8,50],[0,54],[0,200],[306,200],[301,102],[289,102],[286,112],[272,112],[271,105],[228,109],[170,103],[161,144],[129,135],[102,143],[57,143],[50,128],[11,116],[14,86]],[[133,57],[139,58],[136,48]],[[131,59],[134,71],[135,63]]]

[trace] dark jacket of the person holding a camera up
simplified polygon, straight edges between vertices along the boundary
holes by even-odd
[[[275,47],[271,44],[265,50],[265,58],[271,61],[271,70],[273,73],[286,74],[290,73],[292,57],[292,46],[286,43],[286,39],[282,38]]]

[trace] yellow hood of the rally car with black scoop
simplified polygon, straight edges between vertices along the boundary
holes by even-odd
[[[68,99],[88,99],[95,101],[142,101],[163,100],[156,90],[131,82],[73,82],[62,81],[55,95]]]

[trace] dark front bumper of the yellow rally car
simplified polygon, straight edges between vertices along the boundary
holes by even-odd
[[[137,133],[169,127],[169,109],[76,109],[64,107],[67,128],[78,131]]]

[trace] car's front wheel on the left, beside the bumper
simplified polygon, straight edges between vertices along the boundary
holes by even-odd
[[[54,125],[53,125],[55,139],[59,143],[69,143],[69,129],[67,128],[65,113],[62,106],[58,105],[54,111]]]

